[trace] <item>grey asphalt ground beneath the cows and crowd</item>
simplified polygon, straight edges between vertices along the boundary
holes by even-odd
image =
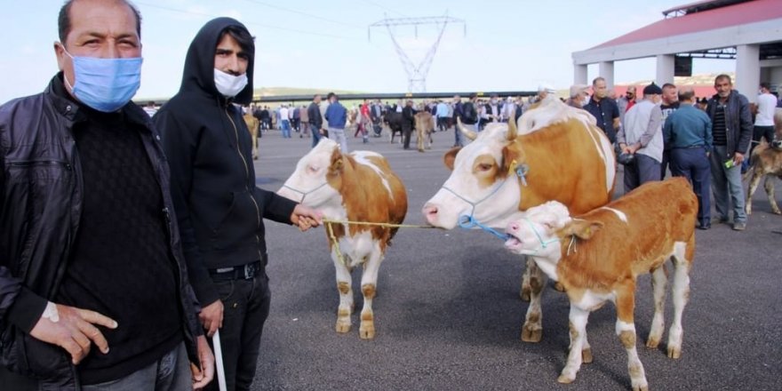
[[[387,133],[384,133],[384,136]],[[408,190],[405,223],[423,224],[420,209],[447,179],[443,153],[453,130],[437,132],[419,153],[386,137],[349,148],[387,157]],[[414,145],[414,144],[413,144]],[[255,162],[259,186],[276,191],[310,148],[310,140],[263,134]],[[556,158],[556,154],[552,154]],[[620,169],[621,170],[621,169]],[[621,193],[621,172],[618,177]],[[780,191],[777,180],[777,190]],[[612,305],[589,318],[594,363],[571,385],[556,382],[569,344],[568,301],[547,288],[544,334],[520,339],[527,303],[519,299],[523,262],[495,236],[457,228],[402,228],[379,270],[375,339],[358,335],[363,304],[355,289],[353,329],[334,331],[339,295],[323,228],[300,233],[267,221],[272,290],[255,390],[625,390],[626,353],[614,333]],[[639,279],[635,327],[638,353],[653,390],[782,389],[782,216],[770,213],[762,187],[746,231],[714,224],[697,231],[690,303],[683,319],[682,358],[666,357],[666,333],[649,349],[653,307],[649,275]],[[621,245],[622,238],[617,238]],[[354,288],[360,286],[354,271]]]

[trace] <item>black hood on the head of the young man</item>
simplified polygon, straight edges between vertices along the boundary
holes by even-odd
[[[222,96],[214,85],[214,54],[222,32],[231,26],[247,30],[242,22],[233,18],[217,18],[208,21],[193,38],[185,57],[180,92],[202,91],[213,96]],[[249,31],[249,30],[248,30]],[[255,68],[255,52],[250,53],[247,65],[247,85],[233,98],[234,103],[247,105],[252,100],[252,75]]]

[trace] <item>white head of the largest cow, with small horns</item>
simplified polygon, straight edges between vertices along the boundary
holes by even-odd
[[[445,154],[451,176],[422,210],[434,227],[452,229],[468,217],[489,227],[505,227],[518,211],[521,192],[515,165],[507,158],[516,144],[515,124],[489,124],[483,132],[459,130],[473,142]],[[521,163],[521,162],[518,162]]]

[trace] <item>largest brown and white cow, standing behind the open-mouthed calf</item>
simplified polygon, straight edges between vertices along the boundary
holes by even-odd
[[[424,205],[427,222],[451,229],[459,220],[504,228],[518,211],[555,200],[583,213],[608,203],[616,179],[610,141],[585,110],[560,100],[543,100],[519,118],[519,129],[489,124],[467,132],[467,147],[445,154],[451,177]],[[523,173],[523,178],[518,176]],[[462,221],[463,222],[463,221]],[[543,289],[540,271],[531,261],[523,276],[522,298]],[[522,339],[541,339],[541,318],[528,308]]]

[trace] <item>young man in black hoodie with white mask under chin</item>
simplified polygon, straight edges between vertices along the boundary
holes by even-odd
[[[237,20],[201,28],[180,92],[154,117],[172,171],[182,247],[209,336],[220,329],[229,390],[250,389],[269,310],[263,218],[321,222],[320,213],[255,186],[250,133],[240,108],[252,98],[255,45]]]

